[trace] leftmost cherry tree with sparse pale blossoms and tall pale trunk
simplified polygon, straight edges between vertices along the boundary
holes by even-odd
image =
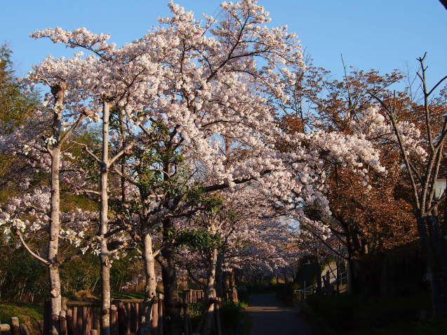
[[[50,278],[50,297],[51,297],[51,313],[52,324],[51,333],[58,334],[58,318],[61,310],[60,296],[60,259],[59,254],[59,238],[61,232],[60,225],[60,179],[62,166],[69,165],[69,158],[62,159],[62,147],[67,143],[69,137],[78,128],[86,118],[85,110],[79,106],[79,86],[76,86],[76,63],[73,60],[54,60],[47,58],[46,62],[36,65],[34,71],[29,76],[29,83],[44,83],[51,89],[51,95],[48,95],[41,111],[36,111],[32,119],[27,121],[19,129],[11,134],[2,134],[2,142],[4,152],[9,155],[17,155],[22,157],[29,166],[32,167],[30,173],[36,173],[39,169],[48,173],[50,176],[50,188],[48,190],[40,190],[34,192],[30,197],[39,199],[36,202],[37,208],[33,208],[32,201],[27,199],[27,208],[38,213],[44,211],[46,205],[43,203],[48,195],[50,199],[48,209],[48,251],[45,257],[34,253],[27,246],[22,232],[25,230],[23,218],[8,218],[9,214],[5,214],[6,218],[12,223],[20,242],[25,249],[46,265]],[[50,109],[45,106],[50,103]],[[11,143],[11,138],[15,143]],[[11,145],[14,144],[14,145]],[[67,155],[69,155],[67,153]],[[29,187],[30,176],[23,180],[24,188]],[[17,202],[17,199],[15,200]],[[33,214],[34,214],[33,213]],[[46,213],[46,211],[44,211]],[[38,216],[39,217],[39,216]],[[39,221],[39,219],[38,219]],[[36,225],[38,223],[34,223]]]

